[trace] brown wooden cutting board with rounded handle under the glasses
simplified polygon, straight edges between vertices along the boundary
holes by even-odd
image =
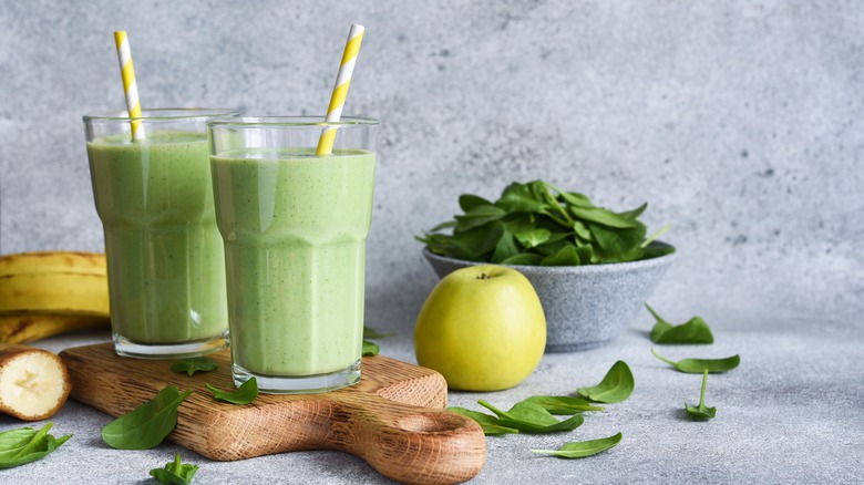
[[[113,343],[64,350],[71,396],[113,416],[168,384],[194,392],[181,404],[168,440],[212,460],[244,460],[295,450],[351,453],[404,483],[449,484],[483,467],[485,436],[472,420],[446,411],[446,382],[435,371],[383,355],[364,357],[360,383],[323,394],[260,394],[248,405],[220,403],[204,388],[234,389],[230,354],[193,376],[174,361],[119,357]]]

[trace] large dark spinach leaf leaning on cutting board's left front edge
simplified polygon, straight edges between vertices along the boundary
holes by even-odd
[[[177,407],[192,394],[168,385],[155,398],[102,429],[102,440],[116,450],[150,450],[177,425]]]

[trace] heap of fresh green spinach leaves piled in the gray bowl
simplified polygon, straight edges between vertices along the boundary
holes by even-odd
[[[430,251],[456,259],[502,265],[582,266],[659,257],[672,249],[651,244],[638,220],[647,204],[623,213],[594,205],[584,194],[547,182],[508,185],[493,202],[462,195],[454,216],[423,237]],[[442,231],[451,230],[451,234]]]

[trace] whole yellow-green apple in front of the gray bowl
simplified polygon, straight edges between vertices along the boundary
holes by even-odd
[[[441,279],[414,328],[418,363],[460,391],[518,384],[537,368],[545,347],[537,292],[525,276],[503,266],[472,266]]]

